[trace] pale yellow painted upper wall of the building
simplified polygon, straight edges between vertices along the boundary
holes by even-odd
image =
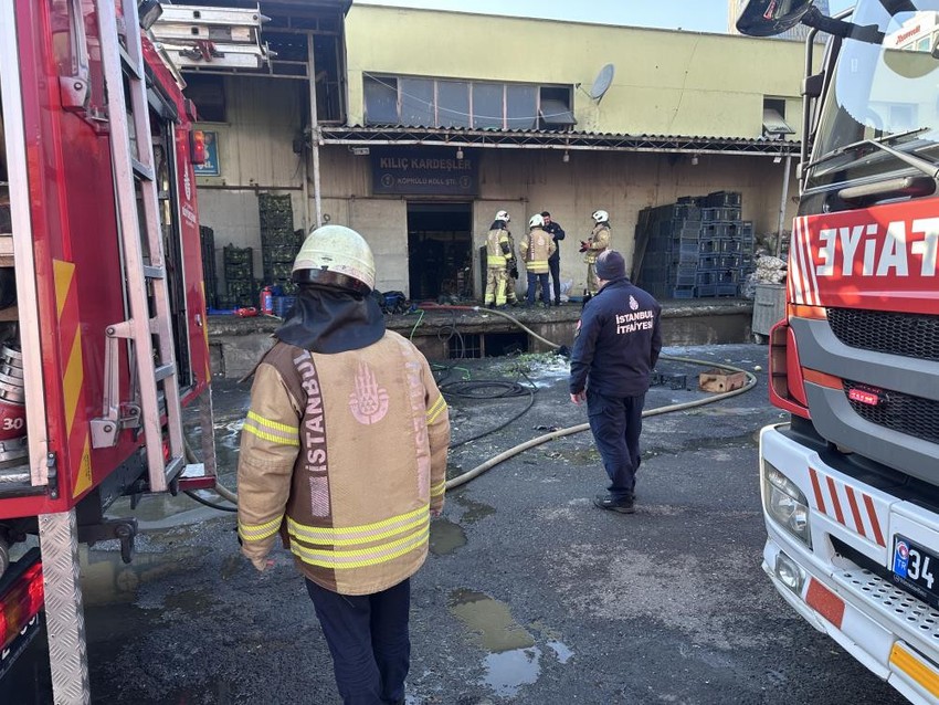
[[[799,129],[800,42],[359,4],[346,41],[351,124],[362,124],[363,73],[378,73],[581,84],[585,131],[758,138],[764,96],[787,98]],[[615,76],[598,103],[587,90],[608,63]]]

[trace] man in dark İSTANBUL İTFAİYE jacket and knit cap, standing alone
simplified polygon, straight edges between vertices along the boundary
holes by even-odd
[[[599,293],[583,307],[571,352],[570,397],[587,400],[590,430],[610,476],[598,507],[632,514],[642,408],[662,349],[662,307],[626,278],[623,255],[597,259]]]

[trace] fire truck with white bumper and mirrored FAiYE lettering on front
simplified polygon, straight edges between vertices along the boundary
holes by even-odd
[[[914,703],[939,703],[939,0],[751,0],[811,28],[787,316],[770,336],[763,570]],[[813,56],[817,32],[830,35]],[[821,66],[820,71],[815,71]],[[772,67],[768,66],[768,71]]]

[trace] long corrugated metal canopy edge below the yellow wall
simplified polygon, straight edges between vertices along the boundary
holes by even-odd
[[[749,157],[798,156],[801,143],[781,139],[615,135],[546,130],[320,125],[319,146],[428,145],[488,149],[560,149],[695,154]]]

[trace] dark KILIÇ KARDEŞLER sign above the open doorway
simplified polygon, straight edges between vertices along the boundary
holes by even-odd
[[[478,156],[470,149],[413,147],[371,150],[372,192],[476,196]]]

